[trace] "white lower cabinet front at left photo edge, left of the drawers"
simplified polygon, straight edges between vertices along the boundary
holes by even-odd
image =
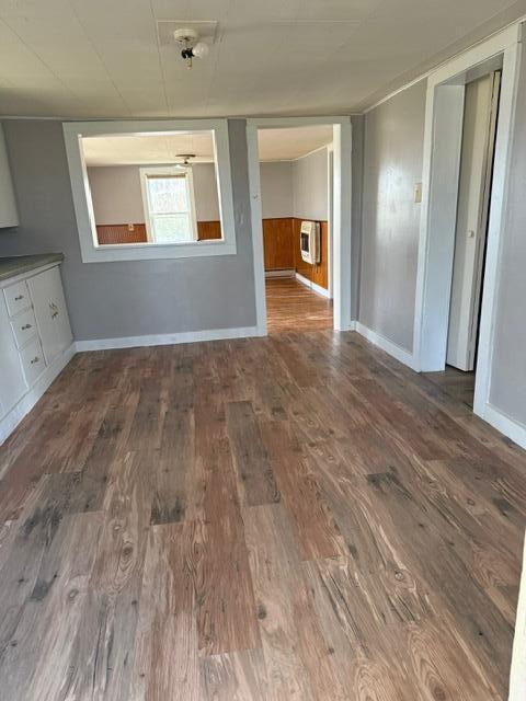
[[[0,416],[7,414],[26,391],[19,350],[0,290]]]

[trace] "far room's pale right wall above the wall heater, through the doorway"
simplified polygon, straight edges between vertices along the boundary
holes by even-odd
[[[293,162],[293,216],[327,221],[329,169],[327,149]]]

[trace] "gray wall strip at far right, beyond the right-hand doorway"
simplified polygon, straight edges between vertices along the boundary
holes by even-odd
[[[526,53],[518,81],[490,402],[526,425]]]

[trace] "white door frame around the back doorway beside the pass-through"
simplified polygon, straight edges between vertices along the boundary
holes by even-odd
[[[256,326],[258,334],[261,336],[265,336],[267,331],[258,131],[259,129],[281,129],[328,124],[332,124],[333,129],[333,210],[331,212],[333,231],[331,280],[334,298],[334,329],[338,331],[348,331],[353,327],[351,319],[351,117],[261,117],[247,119]]]

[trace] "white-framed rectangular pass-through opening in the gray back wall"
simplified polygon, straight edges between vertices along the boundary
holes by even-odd
[[[227,119],[71,122],[64,136],[84,263],[236,254]]]

